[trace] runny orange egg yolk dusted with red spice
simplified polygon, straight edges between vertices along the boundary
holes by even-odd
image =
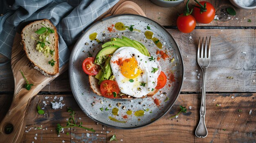
[[[121,73],[128,79],[133,79],[141,73],[141,69],[138,66],[138,62],[134,57],[130,59],[124,59],[120,66]]]

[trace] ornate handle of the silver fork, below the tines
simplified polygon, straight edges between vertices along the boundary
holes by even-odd
[[[198,123],[198,127],[195,130],[195,135],[200,138],[205,138],[208,134],[207,128],[204,122],[205,117],[205,96],[206,96],[206,72],[207,66],[202,66],[202,101],[201,101],[201,108],[200,108],[200,121]]]

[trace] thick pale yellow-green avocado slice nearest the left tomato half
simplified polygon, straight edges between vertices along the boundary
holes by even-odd
[[[104,56],[108,56],[109,54],[113,54],[115,53],[115,51],[117,51],[117,49],[119,48],[119,46],[115,46],[115,45],[112,45],[112,46],[106,46],[105,48],[101,49],[96,57],[95,57],[95,60],[94,60],[94,63],[97,63],[97,59],[101,62],[102,61],[102,58]],[[99,63],[100,64],[100,63]]]

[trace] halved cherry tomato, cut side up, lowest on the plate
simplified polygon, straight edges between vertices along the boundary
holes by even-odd
[[[100,85],[101,94],[107,98],[115,98],[113,92],[116,92],[116,95],[119,93],[119,87],[116,81],[104,80]]]

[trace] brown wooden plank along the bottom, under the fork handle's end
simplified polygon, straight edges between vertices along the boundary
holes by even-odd
[[[242,141],[250,143],[256,139],[256,93],[207,94],[206,125],[208,136],[204,139],[194,136],[195,128],[199,121],[198,111],[201,95],[180,95],[173,108],[162,119],[147,127],[135,130],[118,130],[106,126],[103,127],[103,130],[101,124],[97,125],[86,117],[72,95],[56,95],[57,97],[63,97],[65,106],[62,109],[54,110],[49,103],[54,99],[54,96],[39,95],[35,97],[29,107],[26,130],[40,125],[45,130],[31,129],[29,132],[25,132],[21,142],[51,141],[55,143],[62,140],[65,143],[69,141],[78,143],[89,141],[109,142],[113,134],[116,134],[118,140],[122,139],[124,143],[190,143],[194,141],[198,143],[240,143]],[[45,97],[49,98],[45,99]],[[42,116],[36,112],[36,106],[39,104],[41,107],[44,107],[43,101],[46,101],[47,106],[44,109],[46,114]],[[217,107],[216,104],[220,106]],[[177,119],[168,119],[168,117],[180,111],[180,105],[186,106],[187,114],[180,114]],[[189,106],[191,106],[191,109],[189,109]],[[88,128],[94,128],[96,133],[72,128],[72,130],[64,130],[65,132],[61,133],[60,137],[58,137],[55,131],[56,124],[62,123],[64,125],[66,119],[69,118],[69,113],[66,112],[67,107],[72,107],[76,111],[77,121],[82,121]],[[238,112],[238,109],[243,112]],[[252,110],[251,114],[249,114],[250,110]],[[79,120],[79,117],[81,120]],[[70,136],[66,135],[66,132],[70,132]],[[38,134],[37,140],[34,139],[36,133]],[[89,133],[90,136],[87,137],[86,133]],[[99,136],[96,134],[99,134]]]

